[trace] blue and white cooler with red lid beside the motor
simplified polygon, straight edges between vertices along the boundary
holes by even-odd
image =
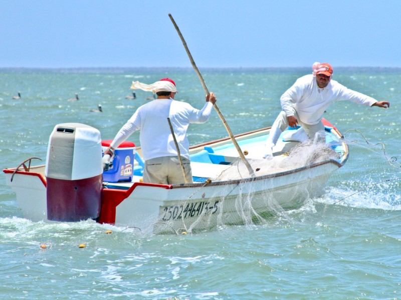
[[[112,139],[102,140],[103,151],[110,146]],[[131,181],[135,158],[135,144],[132,141],[123,141],[115,149],[113,165],[103,171],[103,181],[118,182]]]

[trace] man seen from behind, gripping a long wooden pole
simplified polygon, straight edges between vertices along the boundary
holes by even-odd
[[[204,107],[198,110],[189,103],[174,100],[177,89],[175,82],[170,78],[163,78],[152,84],[135,81],[132,82],[131,88],[151,91],[157,98],[138,107],[104,153],[107,154],[110,152],[109,149],[117,148],[134,131],[140,130],[139,140],[145,160],[143,181],[161,184],[183,183],[184,175],[167,120],[169,117],[186,178],[189,182],[193,182],[186,130],[189,123],[205,123],[209,119],[213,104],[216,102],[215,94],[211,92],[206,96]]]

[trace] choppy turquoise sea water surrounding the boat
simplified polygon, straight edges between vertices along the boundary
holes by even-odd
[[[233,133],[271,125],[279,97],[308,68],[205,69]],[[323,197],[255,226],[188,235],[145,235],[93,221],[25,219],[0,174],[0,295],[15,299],[390,299],[401,298],[399,95],[401,69],[337,68],[344,85],[391,101],[389,109],[337,102],[325,117],[350,157]],[[175,80],[177,99],[202,107],[191,69],[0,69],[0,168],[45,160],[53,127],[82,122],[110,139],[147,101],[132,80]],[[21,91],[22,98],[12,99]],[[78,101],[68,101],[75,93]],[[102,113],[89,111],[97,105]],[[358,131],[356,131],[358,130]],[[130,140],[138,144],[138,134]],[[213,113],[192,124],[190,143],[227,136]],[[376,144],[375,146],[373,146]],[[401,159],[401,158],[400,158]],[[400,160],[401,161],[401,160]],[[32,199],[35,201],[35,199]],[[111,234],[105,234],[107,229]],[[41,249],[40,244],[48,247]],[[85,243],[86,247],[78,245]]]

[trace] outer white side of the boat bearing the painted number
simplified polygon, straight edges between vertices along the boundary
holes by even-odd
[[[251,224],[264,214],[298,208],[305,199],[320,196],[338,167],[327,161],[281,175],[206,186],[138,186],[116,207],[115,224],[153,233]]]

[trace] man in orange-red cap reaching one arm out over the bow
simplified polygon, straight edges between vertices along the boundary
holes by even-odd
[[[324,132],[323,113],[334,101],[350,100],[367,106],[388,108],[390,102],[377,101],[332,80],[333,67],[327,63],[315,62],[312,74],[298,78],[280,98],[283,110],[277,116],[265,143],[264,158],[273,156],[273,146],[280,134],[291,126],[300,125],[306,139],[314,139],[319,131]]]

